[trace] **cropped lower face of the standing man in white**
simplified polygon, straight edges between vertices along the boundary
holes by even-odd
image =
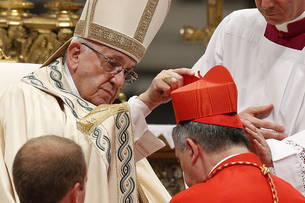
[[[266,21],[280,25],[299,17],[305,10],[305,0],[255,0]]]

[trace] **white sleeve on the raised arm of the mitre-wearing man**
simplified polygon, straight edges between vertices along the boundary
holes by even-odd
[[[136,98],[137,96],[131,97],[127,103],[130,106],[131,125],[135,139],[135,160],[138,162],[161,149],[165,144],[149,131],[145,117],[151,110]]]

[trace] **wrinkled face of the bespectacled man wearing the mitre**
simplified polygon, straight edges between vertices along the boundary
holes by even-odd
[[[91,47],[104,54],[110,59],[116,59],[123,64],[125,69],[131,69],[136,65],[136,61],[116,49],[92,43]],[[84,50],[85,45],[81,44]],[[79,62],[74,74],[74,83],[84,100],[96,106],[100,104],[112,104],[116,99],[120,87],[124,82],[124,71],[117,75],[107,72],[106,65],[109,60],[96,51],[81,51]]]

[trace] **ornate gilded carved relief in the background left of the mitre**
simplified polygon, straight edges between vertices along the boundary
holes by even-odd
[[[73,36],[83,5],[74,0],[45,3],[49,11],[35,16],[27,0],[0,0],[0,47],[17,62],[45,62]]]

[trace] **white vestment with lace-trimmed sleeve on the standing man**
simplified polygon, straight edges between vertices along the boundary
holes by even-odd
[[[305,195],[305,132],[300,132],[305,129],[305,52],[268,40],[266,26],[258,9],[232,12],[192,69],[204,75],[215,65],[228,68],[238,90],[238,112],[273,103],[259,118],[284,126],[289,135],[267,140],[275,173]]]

